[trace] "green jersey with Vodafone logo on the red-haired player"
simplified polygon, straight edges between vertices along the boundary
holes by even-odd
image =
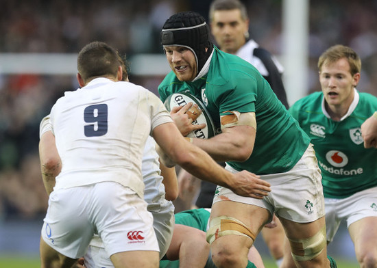
[[[326,116],[322,92],[298,100],[289,109],[314,144],[326,198],[346,198],[377,186],[377,150],[364,148],[360,129],[376,110],[377,98],[356,90],[348,116],[339,122]]]

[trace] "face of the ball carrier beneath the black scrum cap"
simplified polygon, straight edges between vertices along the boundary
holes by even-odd
[[[197,64],[193,51],[184,46],[165,46],[165,54],[171,70],[180,81],[193,81]]]

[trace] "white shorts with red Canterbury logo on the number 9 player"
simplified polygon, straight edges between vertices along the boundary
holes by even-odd
[[[108,256],[159,251],[147,203],[130,188],[104,182],[50,194],[41,230],[48,245],[69,258],[80,258],[94,234],[101,237]]]

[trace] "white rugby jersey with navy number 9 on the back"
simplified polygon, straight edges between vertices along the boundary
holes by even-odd
[[[143,197],[141,159],[148,135],[173,122],[158,97],[106,78],[65,92],[50,113],[62,172],[56,189],[114,181]]]

